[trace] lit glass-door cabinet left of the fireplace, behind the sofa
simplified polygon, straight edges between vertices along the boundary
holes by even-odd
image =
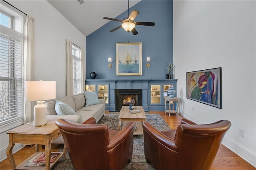
[[[108,105],[108,84],[86,84],[86,91],[96,91],[99,99],[105,99]]]

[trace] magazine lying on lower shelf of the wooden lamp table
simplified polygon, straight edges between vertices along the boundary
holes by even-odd
[[[54,160],[60,155],[60,153],[51,153],[50,163],[54,162]],[[40,153],[39,155],[32,158],[25,166],[45,166],[46,155],[45,152]]]

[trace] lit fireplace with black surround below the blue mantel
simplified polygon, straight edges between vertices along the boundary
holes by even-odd
[[[130,104],[142,106],[142,89],[116,89],[116,112]]]

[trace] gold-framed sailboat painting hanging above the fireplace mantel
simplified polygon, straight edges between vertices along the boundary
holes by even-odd
[[[142,43],[116,43],[116,75],[142,75]]]

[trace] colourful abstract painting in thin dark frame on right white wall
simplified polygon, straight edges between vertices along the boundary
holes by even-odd
[[[187,99],[221,109],[221,68],[186,73]]]

